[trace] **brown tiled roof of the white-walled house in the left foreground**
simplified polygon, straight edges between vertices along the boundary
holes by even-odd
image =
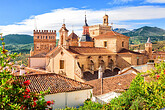
[[[50,94],[54,94],[93,88],[89,84],[78,82],[55,73],[26,75],[23,77],[23,81],[26,80],[30,80],[29,89],[36,93],[48,89],[50,90]]]

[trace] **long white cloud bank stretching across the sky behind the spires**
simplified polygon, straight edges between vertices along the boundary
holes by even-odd
[[[35,20],[37,22],[37,29],[40,30],[56,30],[57,32],[63,24],[63,19],[65,19],[65,24],[67,29],[75,31],[76,34],[82,34],[82,26],[84,25],[84,14],[87,13],[87,20],[89,25],[101,24],[102,17],[105,14],[104,10],[85,10],[76,8],[64,8],[52,10],[49,13],[31,16],[29,19],[25,19],[22,22],[16,24],[0,26],[0,32],[6,34],[30,34],[32,35],[33,29],[35,28]],[[123,27],[131,28],[131,25],[120,24],[120,21],[127,20],[147,20],[147,19],[157,19],[165,18],[165,8],[154,7],[154,6],[138,6],[138,7],[125,7],[110,10],[108,9],[106,13],[109,15],[109,22],[113,22],[113,27]]]

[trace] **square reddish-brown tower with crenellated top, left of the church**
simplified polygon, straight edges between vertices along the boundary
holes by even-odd
[[[31,56],[47,53],[56,47],[56,31],[55,30],[34,30],[34,51]],[[31,50],[32,51],[32,50]]]

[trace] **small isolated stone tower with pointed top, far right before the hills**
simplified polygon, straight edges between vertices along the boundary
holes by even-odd
[[[150,59],[152,57],[152,43],[150,37],[145,43],[145,51],[147,52],[148,58]]]

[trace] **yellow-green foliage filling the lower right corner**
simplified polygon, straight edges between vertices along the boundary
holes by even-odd
[[[154,70],[139,73],[129,89],[108,104],[85,101],[79,108],[66,110],[158,110],[165,107],[165,62],[155,64]],[[144,77],[143,75],[149,76]],[[147,80],[147,79],[148,80]]]

